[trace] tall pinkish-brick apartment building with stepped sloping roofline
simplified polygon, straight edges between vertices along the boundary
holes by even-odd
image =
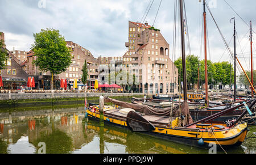
[[[170,45],[159,29],[129,21],[127,53],[123,66],[139,78],[139,91],[176,94],[178,70],[170,58]]]

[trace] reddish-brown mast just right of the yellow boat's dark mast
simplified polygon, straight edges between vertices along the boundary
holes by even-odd
[[[206,11],[205,11],[205,0],[204,0],[204,73],[205,73],[205,101],[207,107],[209,107],[208,99],[208,68],[207,68],[207,20],[206,20]]]

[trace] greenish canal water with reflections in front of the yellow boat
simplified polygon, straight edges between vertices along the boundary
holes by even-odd
[[[73,154],[197,154],[209,153],[170,141],[153,138],[127,129],[84,119],[82,105],[55,105],[0,109],[0,153],[73,153]],[[247,137],[255,136],[255,127]],[[43,144],[43,145],[42,145]],[[42,150],[45,146],[45,150]],[[256,152],[255,138],[226,153]],[[224,153],[218,150],[217,153]]]

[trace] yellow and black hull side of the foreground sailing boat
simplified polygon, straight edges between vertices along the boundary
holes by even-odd
[[[100,121],[99,114],[89,110],[87,113],[90,120]],[[124,119],[111,119],[108,116],[104,116],[104,123],[117,126],[119,128],[129,129],[127,127],[127,122]],[[247,134],[247,124],[245,123],[237,125],[234,129],[216,131],[214,134],[210,134],[209,132],[199,132],[198,130],[195,131],[195,129],[192,128],[168,129],[157,126],[153,131],[139,133],[195,147],[209,147],[209,143],[214,143],[218,147],[220,147],[220,145],[222,147],[232,147],[241,145],[245,140]],[[201,138],[204,140],[203,145],[199,145],[199,140]]]

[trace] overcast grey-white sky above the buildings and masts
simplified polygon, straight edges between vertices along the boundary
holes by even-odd
[[[33,42],[33,33],[40,32],[42,28],[55,28],[60,30],[65,40],[71,40],[84,46],[93,53],[94,57],[100,55],[122,56],[127,50],[125,42],[128,41],[128,21],[141,22],[148,4],[152,1],[0,0],[0,31],[5,33],[6,46],[9,50],[15,47],[17,50],[28,51]],[[174,2],[174,0],[162,1],[154,25],[155,28],[161,30],[170,44],[171,58]],[[236,17],[239,39],[239,42],[237,41],[237,54],[245,69],[249,69],[249,27],[230,9],[224,0],[208,0],[207,2],[228,43],[233,36],[233,22],[230,23],[230,19]],[[247,24],[251,20],[253,26],[256,27],[255,0],[226,0],[226,2],[236,10]],[[146,20],[150,25],[154,22],[159,3],[160,0],[154,0],[148,12]],[[200,56],[203,4],[199,0],[185,0],[185,7],[191,53]],[[208,10],[207,20],[210,45],[208,58],[214,62],[230,61],[228,51],[225,52],[224,42]],[[253,29],[256,28],[253,27]],[[254,33],[254,35],[256,34]],[[176,39],[179,40],[179,37]],[[233,41],[231,41],[230,49],[233,51]],[[179,56],[176,54],[175,57]],[[204,56],[201,56],[201,59],[203,60]]]

